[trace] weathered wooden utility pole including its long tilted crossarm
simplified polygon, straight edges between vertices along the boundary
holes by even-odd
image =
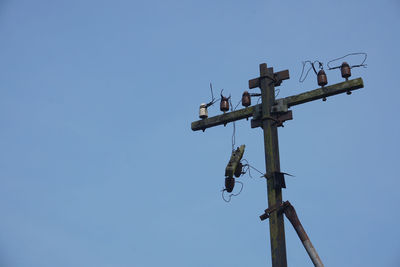
[[[325,100],[337,94],[350,94],[351,91],[364,87],[361,78],[353,80],[346,78],[346,81],[342,83],[275,100],[275,86],[279,86],[283,80],[287,79],[289,79],[288,70],[274,73],[273,68],[268,68],[267,64],[260,64],[260,76],[249,80],[249,88],[261,89],[261,104],[194,121],[191,125],[193,131],[205,131],[214,126],[253,118],[251,128],[261,127],[264,133],[265,178],[270,209],[282,205],[282,188],[286,188],[284,173],[280,171],[277,127],[282,126],[284,121],[292,119],[292,111],[288,108],[318,99]],[[272,267],[287,267],[283,213],[271,212],[268,215]]]

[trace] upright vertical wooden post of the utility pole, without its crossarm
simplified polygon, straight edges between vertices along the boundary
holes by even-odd
[[[271,107],[275,103],[274,72],[267,68],[267,64],[260,64],[262,128],[264,131],[265,166],[267,176],[271,177],[280,172],[278,129],[271,118]],[[271,177],[272,178],[272,177]],[[275,186],[275,179],[267,179],[268,206],[282,203],[282,189]],[[283,215],[274,212],[269,219],[269,233],[271,241],[272,267],[286,267],[286,243]]]

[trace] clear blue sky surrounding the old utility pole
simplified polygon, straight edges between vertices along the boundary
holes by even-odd
[[[284,199],[325,266],[399,266],[399,29],[397,0],[0,0],[0,266],[270,266],[265,181],[223,202],[232,125],[190,123],[210,81],[236,102],[266,62],[289,96],[317,88],[303,60],[358,51],[364,89],[279,129]],[[236,132],[264,170],[261,130]]]

